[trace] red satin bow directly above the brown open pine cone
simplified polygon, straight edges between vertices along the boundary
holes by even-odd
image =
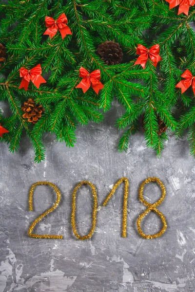
[[[24,88],[25,91],[28,89],[28,85],[30,80],[35,84],[37,88],[39,88],[40,83],[46,83],[47,81],[40,75],[41,74],[41,67],[40,64],[35,66],[31,70],[27,70],[24,67],[20,68],[20,77],[23,77],[21,80],[20,88]]]

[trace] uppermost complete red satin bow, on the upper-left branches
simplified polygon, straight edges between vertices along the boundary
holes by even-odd
[[[57,20],[52,17],[45,17],[45,24],[48,29],[44,32],[43,35],[49,35],[50,38],[54,37],[59,30],[61,37],[64,38],[66,35],[72,35],[72,32],[68,25],[67,17],[62,13]]]

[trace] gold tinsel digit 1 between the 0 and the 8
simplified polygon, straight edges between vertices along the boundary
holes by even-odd
[[[123,215],[122,215],[122,237],[126,237],[127,233],[127,202],[128,202],[128,194],[129,194],[129,181],[127,178],[121,178],[112,188],[110,194],[107,196],[105,201],[103,202],[103,206],[106,206],[107,202],[112,198],[114,195],[117,187],[120,183],[125,183],[124,187],[124,199],[123,199]]]

